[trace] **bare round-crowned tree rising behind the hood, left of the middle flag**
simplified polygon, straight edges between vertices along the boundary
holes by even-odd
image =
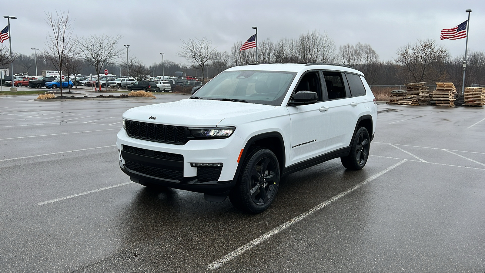
[[[202,79],[204,79],[204,67],[214,58],[215,48],[211,44],[212,42],[206,37],[201,40],[197,38],[182,40],[180,46],[182,50],[177,52],[178,56],[193,62],[202,70]]]

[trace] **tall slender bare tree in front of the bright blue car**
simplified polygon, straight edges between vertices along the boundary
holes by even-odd
[[[47,35],[46,49],[42,55],[62,74],[66,61],[75,54],[76,43],[72,35],[72,20],[69,13],[57,12],[56,16],[46,13],[46,22],[52,30]],[[62,84],[60,85],[63,95]]]

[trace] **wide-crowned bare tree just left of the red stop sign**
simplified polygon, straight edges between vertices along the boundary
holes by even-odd
[[[81,37],[78,40],[81,58],[95,68],[97,76],[101,74],[105,64],[109,64],[121,53],[122,50],[116,48],[120,39],[121,35],[113,37],[102,34]],[[97,84],[99,85],[99,79]]]

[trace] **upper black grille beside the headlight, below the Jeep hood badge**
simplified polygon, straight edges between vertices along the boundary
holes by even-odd
[[[153,124],[134,120],[125,120],[129,137],[183,145],[187,142],[187,127]]]

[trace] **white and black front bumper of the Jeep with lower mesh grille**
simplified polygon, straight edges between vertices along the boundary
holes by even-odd
[[[121,170],[135,182],[217,194],[234,187],[244,140],[232,135],[225,139],[193,139],[184,145],[175,145],[131,138],[122,129],[116,146]],[[223,167],[192,167],[191,163],[223,163]]]

